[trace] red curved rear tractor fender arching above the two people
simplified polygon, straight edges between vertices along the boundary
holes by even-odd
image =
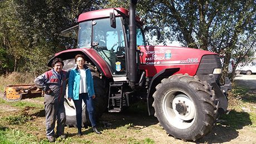
[[[56,53],[54,57],[52,57],[47,66],[51,67],[51,63],[55,58],[61,58],[62,60],[73,59],[77,54],[83,54],[85,56],[85,60],[88,63],[93,63],[102,73],[102,76],[111,78],[111,72],[107,63],[102,59],[99,54],[92,48],[76,48],[76,49],[67,49],[66,51],[62,51]]]

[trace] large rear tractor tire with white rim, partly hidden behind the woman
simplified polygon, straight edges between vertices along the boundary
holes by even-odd
[[[67,60],[69,66],[75,66],[75,61],[70,61],[71,59]],[[72,64],[73,63],[73,64]],[[64,64],[64,65],[65,65]],[[96,71],[96,69],[90,64],[86,63],[88,68],[90,68],[92,77],[93,77],[93,85],[95,90],[95,98],[93,99],[94,108],[95,108],[95,118],[96,121],[102,116],[102,114],[106,111],[107,108],[107,88],[105,85],[105,81],[103,78],[100,78],[100,73]],[[72,67],[66,67],[65,69],[71,69]],[[64,68],[63,68],[64,69]],[[67,86],[68,90],[68,86]],[[66,125],[75,126],[76,127],[76,109],[75,104],[73,101],[67,100],[67,90],[66,90],[66,99],[64,102],[65,112],[66,112]],[[82,127],[90,126],[90,120],[88,117],[88,112],[86,110],[86,105],[82,102]]]

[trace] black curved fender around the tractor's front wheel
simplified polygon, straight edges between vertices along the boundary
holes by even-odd
[[[164,78],[174,75],[174,73],[178,72],[179,70],[180,68],[163,69],[163,71],[156,73],[156,75],[152,77],[149,85],[149,91],[147,92],[147,112],[149,112],[149,116],[154,115],[155,113],[155,109],[152,107],[152,103],[154,101],[152,95],[156,91],[156,85],[159,84]]]

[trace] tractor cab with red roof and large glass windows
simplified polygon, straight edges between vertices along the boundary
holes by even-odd
[[[106,9],[104,10],[106,12]],[[79,24],[62,31],[62,36],[77,39],[77,48],[93,48],[104,61],[106,61],[113,77],[127,76],[127,53],[129,49],[129,17],[124,8],[109,9],[115,16],[114,24],[111,18],[97,17],[99,11],[90,12],[87,16],[80,15]],[[110,14],[108,13],[108,14]],[[121,13],[121,14],[119,14]],[[101,14],[102,15],[102,14]],[[91,18],[90,16],[93,16]],[[95,17],[96,16],[96,17]],[[136,45],[144,46],[145,37],[141,28],[141,22],[136,23]]]

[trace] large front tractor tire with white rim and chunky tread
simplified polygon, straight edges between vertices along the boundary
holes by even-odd
[[[156,86],[153,97],[155,117],[175,138],[195,141],[214,126],[214,91],[197,76],[179,74],[165,78]]]

